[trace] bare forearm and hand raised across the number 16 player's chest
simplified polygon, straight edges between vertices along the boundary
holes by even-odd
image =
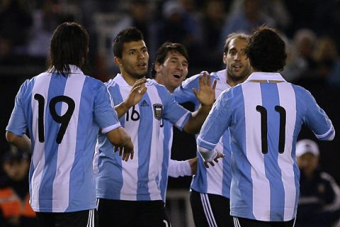
[[[115,106],[115,111],[117,111],[118,118],[126,114],[132,106],[135,106],[135,104],[137,104],[140,99],[142,99],[142,96],[145,94],[145,92],[147,92],[145,82],[147,82],[147,79],[145,78],[138,79],[137,82],[133,84],[128,98]]]

